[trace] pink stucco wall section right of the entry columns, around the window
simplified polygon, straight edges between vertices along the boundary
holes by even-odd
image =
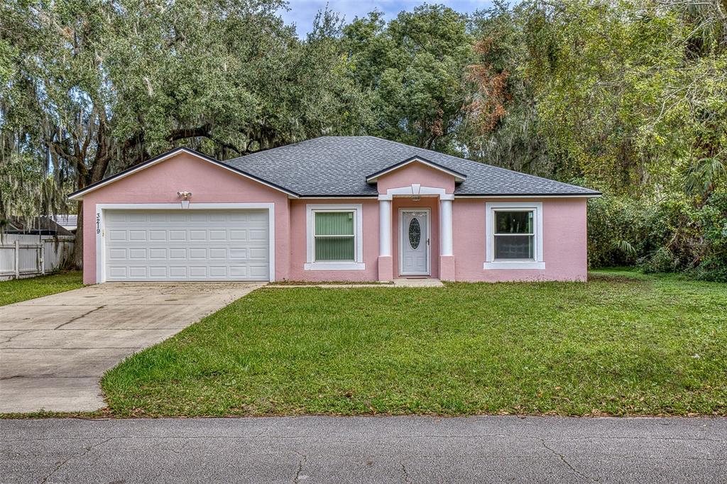
[[[545,270],[484,270],[485,203],[502,198],[455,198],[454,266],[457,281],[585,281],[587,278],[586,199],[544,198]],[[523,201],[513,198],[509,201]],[[529,199],[527,201],[533,201]]]

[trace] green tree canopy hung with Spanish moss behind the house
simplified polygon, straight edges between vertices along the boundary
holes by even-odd
[[[64,193],[179,145],[226,159],[325,134],[642,206],[702,209],[727,190],[727,0],[425,4],[350,23],[324,11],[305,39],[283,7],[4,1],[0,218],[73,211]]]

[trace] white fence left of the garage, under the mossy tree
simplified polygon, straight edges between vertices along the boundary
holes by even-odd
[[[3,234],[0,281],[52,273],[73,257],[73,237]]]

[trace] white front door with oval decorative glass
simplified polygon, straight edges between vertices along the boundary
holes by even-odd
[[[402,209],[399,214],[399,273],[429,275],[429,210]]]

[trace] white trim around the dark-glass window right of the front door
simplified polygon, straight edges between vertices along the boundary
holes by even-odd
[[[495,211],[533,210],[535,221],[535,254],[534,260],[495,260],[494,232]],[[542,202],[487,202],[485,203],[485,262],[482,268],[491,269],[545,269],[543,260],[543,204]]]

